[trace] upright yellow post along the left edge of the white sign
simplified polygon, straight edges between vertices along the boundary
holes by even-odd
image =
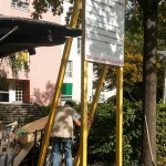
[[[82,1],[82,29],[85,30],[85,0]],[[85,61],[85,31],[82,33],[81,58],[81,166],[87,164],[87,62]]]

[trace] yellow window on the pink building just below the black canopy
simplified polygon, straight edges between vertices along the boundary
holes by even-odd
[[[21,71],[29,70],[29,52],[28,51],[20,51],[15,53],[15,69],[20,69]]]

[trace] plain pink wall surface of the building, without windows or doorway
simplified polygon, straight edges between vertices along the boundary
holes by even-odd
[[[32,0],[30,0],[32,2]],[[11,0],[0,0],[0,14],[10,17],[31,18],[33,11],[32,4],[30,10],[24,11],[11,7]],[[51,12],[43,14],[43,20],[51,22],[61,22],[60,17],[52,15]],[[59,73],[61,63],[61,46],[46,46],[35,49],[35,54],[30,56],[30,72],[19,72],[19,80],[30,81],[30,100],[31,102],[39,102],[48,104],[52,100],[54,85]],[[8,79],[13,79],[9,70]],[[12,85],[11,85],[12,86]],[[11,94],[12,89],[10,89]],[[13,98],[11,96],[12,102]]]

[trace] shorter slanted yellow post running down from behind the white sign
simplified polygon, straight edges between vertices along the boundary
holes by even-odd
[[[95,110],[96,110],[96,106],[97,106],[97,101],[100,98],[100,94],[101,94],[101,91],[102,91],[102,87],[103,87],[103,83],[105,81],[106,71],[107,71],[107,65],[103,65],[102,72],[100,74],[100,80],[98,80],[98,83],[97,83],[97,87],[96,87],[96,91],[95,91],[95,95],[94,95],[94,98],[93,98],[93,103],[92,103],[90,114],[89,114],[90,120],[92,120],[94,117]],[[87,135],[90,133],[91,125],[92,125],[92,122],[89,123]],[[80,156],[81,156],[81,147],[79,147],[79,153],[77,153],[74,166],[80,166]]]

